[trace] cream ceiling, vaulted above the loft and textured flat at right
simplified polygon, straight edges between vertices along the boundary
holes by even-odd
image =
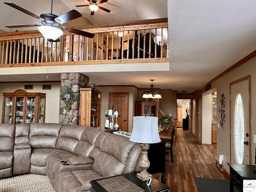
[[[18,10],[0,1],[0,29],[12,24],[40,24]],[[13,3],[40,15],[50,12],[50,0],[12,0]],[[166,18],[168,16],[170,71],[168,72],[90,72],[90,80],[102,85],[135,85],[147,88],[155,79],[154,88],[188,90],[193,92],[212,78],[255,50],[256,1],[248,0],[108,0],[101,4],[110,13],[98,10],[90,16],[86,0],[54,0],[53,14],[61,15],[78,10],[92,24]],[[84,25],[83,23],[79,25]],[[29,28],[32,30],[33,28]],[[27,30],[18,28],[18,30]],[[34,80],[34,76],[15,76],[15,80]],[[26,78],[27,77],[27,78]],[[59,79],[52,74],[50,80]],[[7,81],[10,76],[0,76]],[[37,80],[45,80],[45,74]],[[106,81],[108,79],[108,81]]]

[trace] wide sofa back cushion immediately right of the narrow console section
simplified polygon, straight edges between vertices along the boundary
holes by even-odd
[[[60,128],[63,124],[33,123],[30,124],[29,142],[32,149],[55,149]]]

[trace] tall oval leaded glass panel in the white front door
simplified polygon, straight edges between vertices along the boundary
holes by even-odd
[[[234,150],[236,163],[242,164],[244,156],[244,110],[241,94],[238,93],[234,107]]]

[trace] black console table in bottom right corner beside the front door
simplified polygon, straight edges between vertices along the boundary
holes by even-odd
[[[230,168],[230,192],[234,192],[234,186],[238,191],[243,192],[244,180],[256,180],[256,174],[252,172],[252,170],[256,170],[256,165],[227,164]]]

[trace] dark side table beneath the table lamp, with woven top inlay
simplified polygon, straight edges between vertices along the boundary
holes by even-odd
[[[151,186],[148,187],[146,181],[142,181],[136,177],[136,173],[137,172],[132,172],[120,176],[92,180],[90,182],[92,184],[92,192],[168,192],[170,189],[170,187],[154,178],[152,178]],[[118,187],[119,183],[120,187]],[[105,188],[109,187],[111,189],[106,190],[102,185],[105,185]],[[129,190],[126,189],[126,185],[130,187]],[[132,187],[134,187],[134,189]]]

